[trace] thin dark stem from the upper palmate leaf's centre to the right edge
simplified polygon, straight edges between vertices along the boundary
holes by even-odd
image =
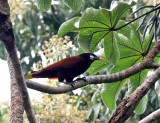
[[[159,6],[159,7],[157,7],[157,8],[155,8],[155,9],[152,9],[152,10],[151,10],[151,11],[149,11],[149,12],[146,12],[145,14],[143,14],[143,15],[141,15],[141,16],[139,16],[139,17],[137,17],[137,18],[133,19],[133,20],[131,20],[130,22],[128,22],[128,23],[126,23],[126,24],[124,24],[124,25],[122,25],[122,26],[120,26],[120,27],[118,27],[118,28],[114,28],[114,29],[113,29],[113,31],[120,30],[120,29],[122,29],[123,27],[125,27],[125,26],[129,25],[130,23],[132,23],[132,22],[134,22],[134,21],[138,20],[139,18],[141,18],[141,17],[143,17],[143,16],[145,16],[145,15],[147,15],[147,14],[151,13],[151,12],[156,11],[157,9],[160,9],[160,6]]]

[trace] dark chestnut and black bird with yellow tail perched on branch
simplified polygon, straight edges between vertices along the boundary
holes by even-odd
[[[95,60],[105,60],[96,56],[93,53],[82,53],[77,56],[64,58],[38,71],[32,71],[26,75],[26,79],[33,78],[49,78],[58,79],[59,82],[71,84],[73,86],[73,79],[78,75],[84,73]],[[78,78],[83,79],[83,78]],[[83,79],[84,80],[84,79]],[[84,80],[85,81],[85,80]]]

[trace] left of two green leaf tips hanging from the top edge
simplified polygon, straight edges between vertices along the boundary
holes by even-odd
[[[40,11],[48,11],[51,6],[51,0],[35,0]]]

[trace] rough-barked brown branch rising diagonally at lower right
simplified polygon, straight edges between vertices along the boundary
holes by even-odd
[[[151,75],[141,86],[139,86],[128,98],[124,99],[116,108],[108,123],[124,123],[131,116],[139,101],[146,95],[148,90],[154,86],[160,77],[160,68]]]

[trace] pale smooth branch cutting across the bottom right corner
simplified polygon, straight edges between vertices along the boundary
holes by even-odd
[[[143,118],[138,123],[153,123],[153,122],[158,122],[158,121],[160,121],[160,109],[152,112],[151,114]]]

